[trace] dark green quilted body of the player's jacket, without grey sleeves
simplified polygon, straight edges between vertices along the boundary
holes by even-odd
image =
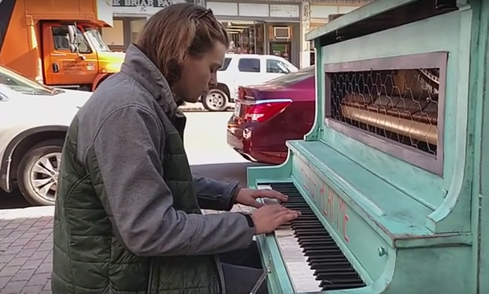
[[[200,214],[183,147],[186,118],[163,121],[166,141],[161,158],[174,207]],[[138,257],[118,241],[103,209],[105,190],[97,170],[77,159],[76,119],[63,148],[54,213],[53,294],[219,294],[215,256]],[[88,151],[88,160],[95,160]],[[94,165],[96,166],[96,165]]]

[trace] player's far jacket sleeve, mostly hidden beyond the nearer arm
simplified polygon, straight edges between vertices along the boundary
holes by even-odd
[[[204,177],[193,178],[193,188],[202,209],[229,211],[235,204],[239,181],[221,182]]]

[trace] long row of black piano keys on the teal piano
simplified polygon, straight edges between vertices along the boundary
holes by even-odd
[[[282,206],[301,212],[301,216],[287,226],[302,249],[306,261],[320,281],[323,291],[365,287],[358,273],[345,258],[313,210],[292,183],[267,184],[289,197]]]

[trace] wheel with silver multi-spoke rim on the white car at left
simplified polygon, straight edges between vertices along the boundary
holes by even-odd
[[[54,205],[63,140],[46,140],[30,148],[20,159],[17,184],[31,205]]]

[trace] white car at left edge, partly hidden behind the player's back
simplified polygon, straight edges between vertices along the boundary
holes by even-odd
[[[54,204],[64,137],[90,96],[40,85],[0,65],[0,191],[16,186],[33,205]]]

